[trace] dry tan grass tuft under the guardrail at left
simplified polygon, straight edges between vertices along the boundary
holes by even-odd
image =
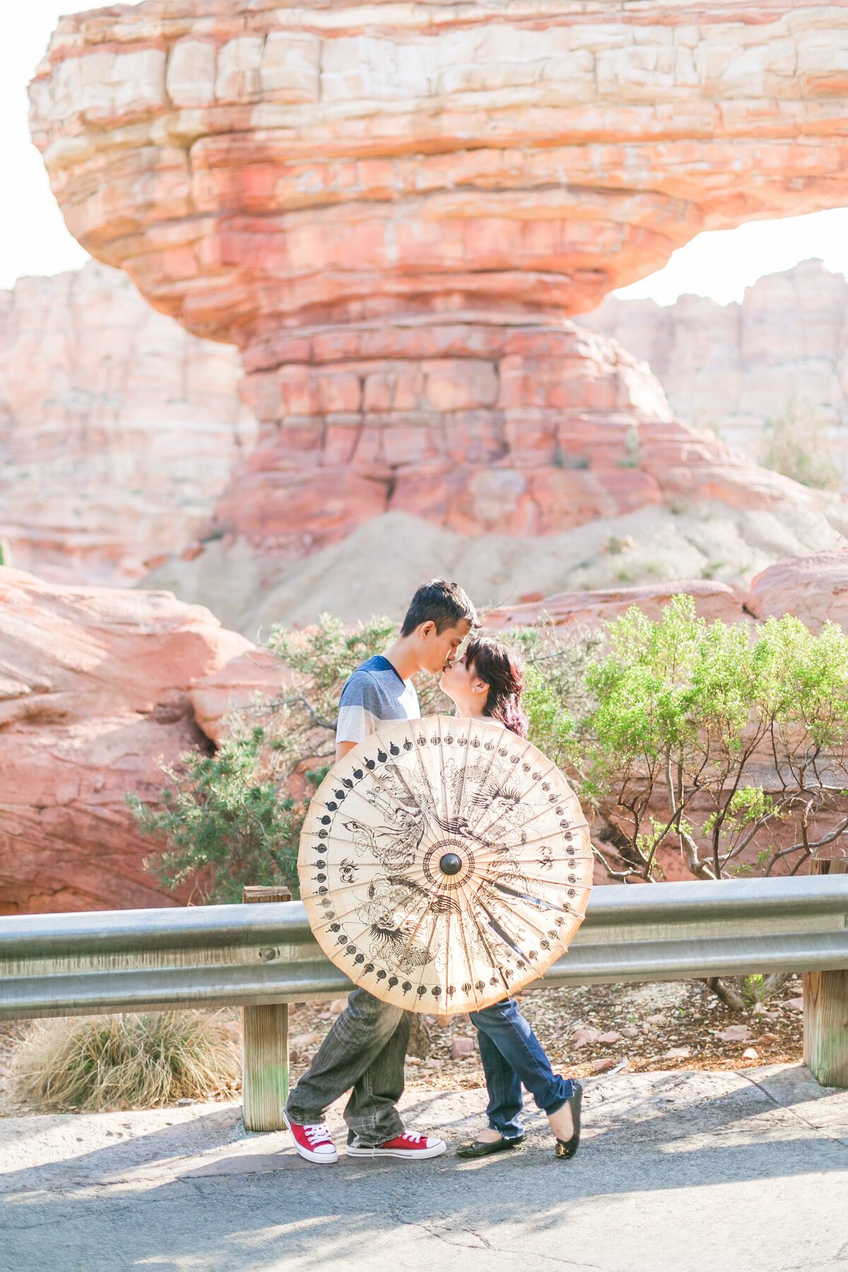
[[[146,1011],[36,1021],[10,1079],[19,1100],[44,1112],[155,1108],[233,1095],[240,1063],[221,1013]]]

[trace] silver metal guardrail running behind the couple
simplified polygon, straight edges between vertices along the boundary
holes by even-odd
[[[848,968],[848,875],[596,888],[545,985]],[[0,918],[0,1019],[327,999],[299,902]]]

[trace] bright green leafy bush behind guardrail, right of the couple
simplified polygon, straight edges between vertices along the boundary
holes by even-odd
[[[768,874],[848,829],[848,637],[797,618],[706,623],[692,597],[653,622],[632,608],[589,668],[596,698],[582,730],[581,791],[615,828],[617,878],[655,879],[662,845],[703,879],[749,846]],[[768,786],[763,785],[763,771]],[[824,819],[825,828],[816,826]],[[777,823],[793,842],[772,843]],[[817,837],[816,837],[817,834]]]

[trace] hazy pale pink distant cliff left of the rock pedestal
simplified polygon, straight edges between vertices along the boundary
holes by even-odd
[[[209,519],[256,431],[234,349],[92,261],[0,291],[0,538],[53,581],[135,583]]]

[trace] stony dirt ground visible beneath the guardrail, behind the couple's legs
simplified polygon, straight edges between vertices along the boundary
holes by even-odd
[[[556,1070],[585,1077],[626,1062],[628,1072],[651,1070],[740,1070],[759,1065],[798,1063],[802,1053],[801,978],[744,1013],[725,1006],[699,981],[528,990],[521,1010],[535,1029]],[[346,1000],[301,1004],[291,1010],[292,1082],[309,1065]],[[226,1013],[233,1033],[238,1011]],[[411,1090],[472,1090],[483,1072],[475,1029],[468,1016],[425,1018],[430,1033],[426,1057],[407,1060]],[[25,1024],[0,1024],[0,1116],[34,1112],[14,1100],[10,1062]],[[737,1037],[721,1037],[727,1034]],[[470,1049],[468,1049],[470,1048]],[[422,1048],[426,1049],[426,1048]],[[459,1054],[463,1049],[467,1054]],[[220,1093],[231,1100],[238,1090]]]

